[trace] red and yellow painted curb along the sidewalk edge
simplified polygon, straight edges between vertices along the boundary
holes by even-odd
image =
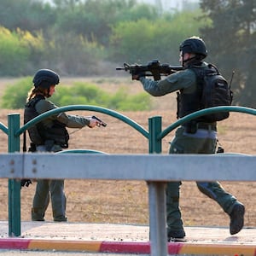
[[[149,254],[150,242],[134,241],[73,241],[26,238],[0,238],[1,249],[57,250],[88,253],[136,253]],[[169,254],[218,254],[256,256],[254,245],[203,244],[191,242],[169,242]]]

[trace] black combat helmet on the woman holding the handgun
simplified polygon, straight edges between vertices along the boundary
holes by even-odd
[[[35,87],[40,86],[46,89],[48,89],[50,85],[59,84],[59,82],[59,75],[50,69],[39,69],[33,78]]]

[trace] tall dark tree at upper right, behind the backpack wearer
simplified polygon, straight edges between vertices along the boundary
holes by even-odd
[[[256,108],[256,1],[201,0],[200,5],[203,18],[212,20],[210,26],[201,29],[209,59],[226,77],[235,70],[234,103]]]

